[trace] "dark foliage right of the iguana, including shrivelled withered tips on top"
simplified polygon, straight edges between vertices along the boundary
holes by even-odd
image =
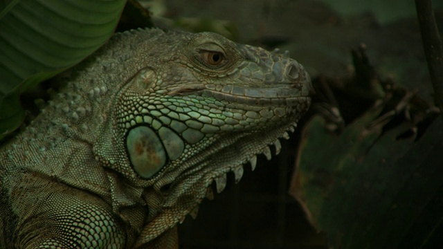
[[[363,48],[353,58],[352,78],[314,82],[318,112],[290,192],[332,248],[433,248],[443,242],[440,112],[379,80]]]

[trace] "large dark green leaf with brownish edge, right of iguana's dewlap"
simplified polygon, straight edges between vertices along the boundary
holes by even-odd
[[[424,248],[442,242],[443,122],[415,140],[413,124],[383,131],[379,108],[339,136],[316,117],[303,131],[291,190],[334,248]],[[383,132],[382,132],[383,131]]]

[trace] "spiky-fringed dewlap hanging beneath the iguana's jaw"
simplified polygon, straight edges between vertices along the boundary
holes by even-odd
[[[181,172],[181,175],[174,179],[169,194],[164,196],[161,207],[163,212],[152,216],[152,220],[143,229],[141,233],[143,236],[138,243],[143,244],[161,234],[163,230],[158,230],[159,225],[166,230],[183,222],[188,214],[195,218],[201,201],[213,198],[214,182],[215,190],[221,192],[226,186],[228,172],[234,173],[237,183],[242,178],[245,164],[249,163],[252,169],[255,169],[257,155],[264,154],[266,158],[271,158],[270,145],[275,146],[275,154],[278,154],[279,139],[289,139],[289,132],[294,131],[297,122],[298,118],[268,132],[237,133],[229,139],[219,140],[211,145],[209,150],[201,151],[198,157],[205,159],[200,159],[199,167],[195,166]],[[223,146],[227,140],[232,140],[233,143]],[[251,143],[254,144],[253,147],[249,146]],[[181,194],[173,194],[174,192]]]

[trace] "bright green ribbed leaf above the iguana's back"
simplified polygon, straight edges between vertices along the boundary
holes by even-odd
[[[11,116],[23,113],[18,94],[78,64],[107,42],[124,6],[120,0],[0,2],[0,109],[8,109],[0,116],[6,123],[0,133],[18,127],[23,118]]]

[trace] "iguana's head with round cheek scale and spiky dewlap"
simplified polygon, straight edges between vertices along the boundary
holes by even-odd
[[[205,196],[235,181],[256,155],[280,151],[307,111],[311,82],[287,53],[214,33],[156,33],[145,66],[120,90],[114,113],[119,172],[144,187],[145,241],[181,221]],[[117,166],[115,166],[117,165]]]

